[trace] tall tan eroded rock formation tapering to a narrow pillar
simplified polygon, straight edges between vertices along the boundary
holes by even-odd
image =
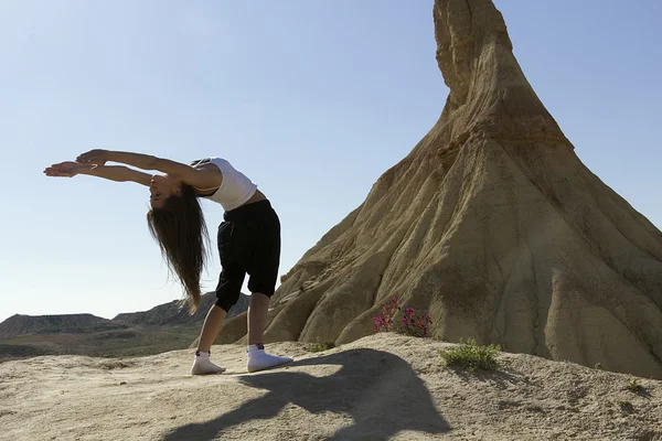
[[[662,234],[581,163],[492,1],[434,20],[438,122],[282,277],[268,341],[354,341],[398,295],[436,337],[662,378]]]

